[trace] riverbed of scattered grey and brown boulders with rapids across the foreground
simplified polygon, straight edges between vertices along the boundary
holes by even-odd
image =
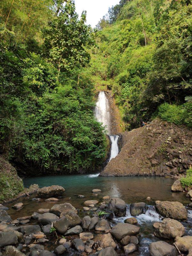
[[[192,208],[188,205],[170,201],[155,201],[154,206],[126,204],[108,195],[100,199],[101,190],[93,188],[90,198],[95,199],[84,200],[76,209],[69,202],[60,203],[66,193],[58,185],[39,189],[34,198],[28,197],[28,203],[35,201],[41,207],[46,202],[50,208],[39,208],[28,216],[22,214],[26,213],[22,202],[12,204],[15,215],[11,216],[8,207],[1,205],[0,255],[192,255]],[[83,200],[84,195],[78,198]]]

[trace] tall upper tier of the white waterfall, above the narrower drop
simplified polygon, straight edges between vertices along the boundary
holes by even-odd
[[[99,92],[98,101],[95,108],[95,116],[97,121],[106,126],[108,134],[110,134],[110,112],[109,102],[104,92]]]

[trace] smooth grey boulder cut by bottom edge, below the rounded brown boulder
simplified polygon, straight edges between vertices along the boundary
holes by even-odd
[[[151,256],[177,256],[176,248],[163,241],[151,243],[149,252]]]

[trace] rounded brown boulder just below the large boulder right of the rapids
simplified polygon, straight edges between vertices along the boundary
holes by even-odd
[[[175,238],[176,236],[183,236],[185,233],[184,226],[178,221],[170,218],[164,219],[156,229],[155,234],[163,238]]]

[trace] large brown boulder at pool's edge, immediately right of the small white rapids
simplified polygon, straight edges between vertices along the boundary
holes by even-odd
[[[156,201],[157,211],[166,218],[187,220],[187,210],[179,202]]]

